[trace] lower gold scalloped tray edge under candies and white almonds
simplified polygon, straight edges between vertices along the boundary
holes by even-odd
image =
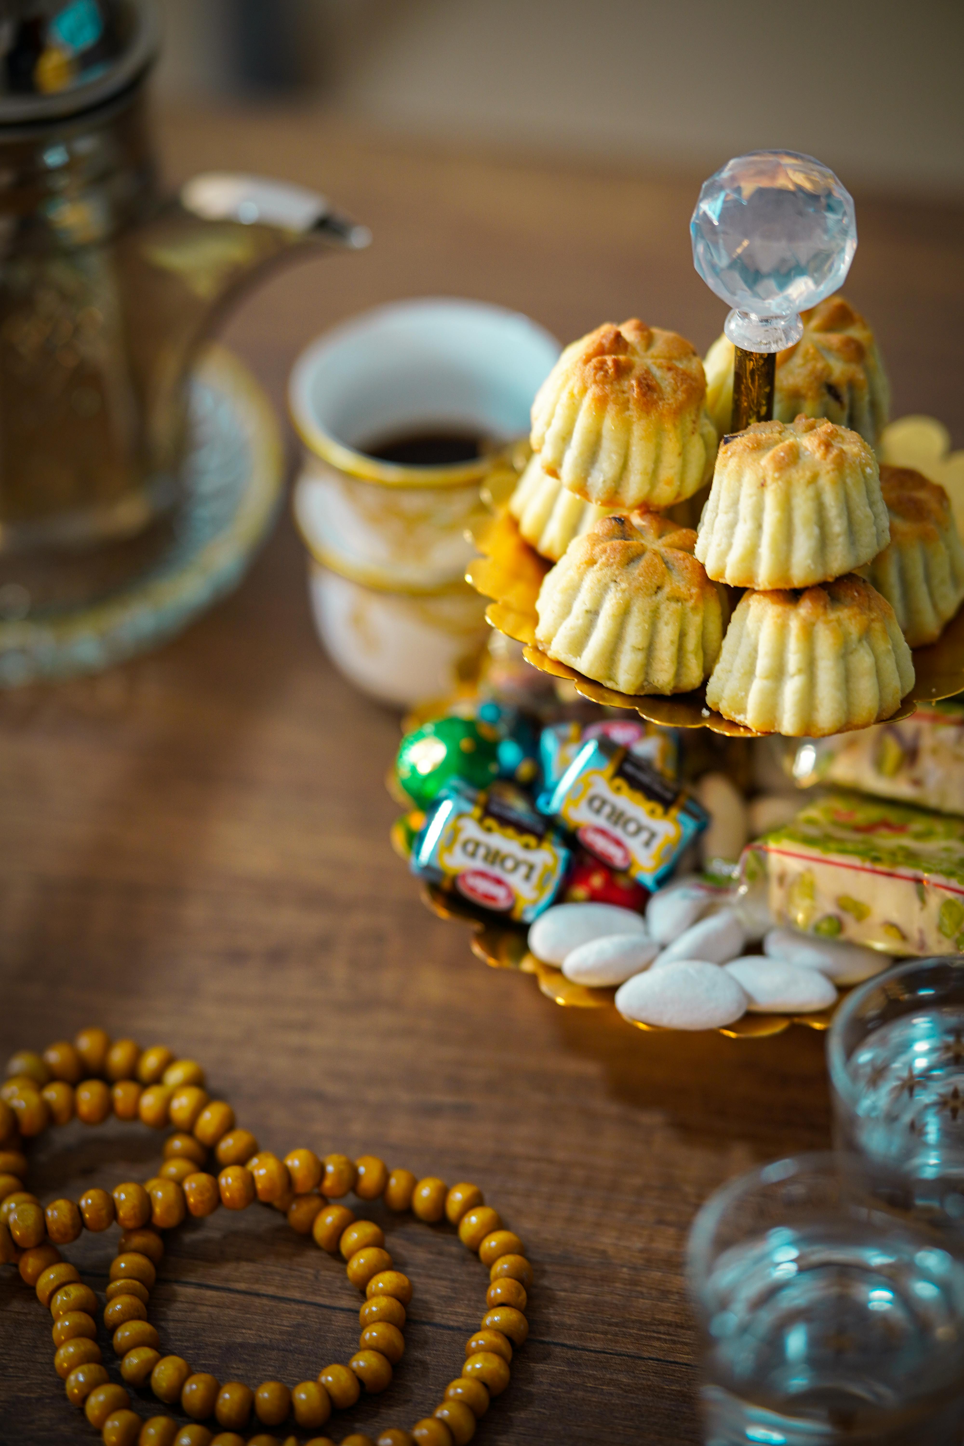
[[[389,782],[389,792],[399,798],[397,785]],[[421,827],[423,814],[412,813],[399,818],[392,829],[392,846],[399,857],[408,862],[410,855],[410,837],[416,827]],[[471,951],[490,969],[515,969],[522,975],[533,975],[541,993],[554,1004],[575,1009],[611,1009],[616,1014],[616,989],[588,989],[585,985],[574,985],[561,969],[536,959],[526,946],[528,930],[519,924],[506,924],[499,918],[486,915],[460,899],[455,894],[447,894],[434,884],[422,884],[422,902],[438,918],[455,920],[465,924],[473,934]],[[835,1006],[834,1006],[835,1008]],[[821,1009],[817,1014],[744,1014],[736,1024],[717,1031],[730,1040],[762,1040],[772,1034],[782,1034],[792,1024],[804,1024],[811,1030],[827,1030],[834,1017],[834,1009]],[[626,1015],[620,1015],[626,1019]],[[626,1019],[636,1030],[656,1032],[656,1025],[639,1024],[636,1019]],[[672,1032],[659,1030],[658,1032]]]

